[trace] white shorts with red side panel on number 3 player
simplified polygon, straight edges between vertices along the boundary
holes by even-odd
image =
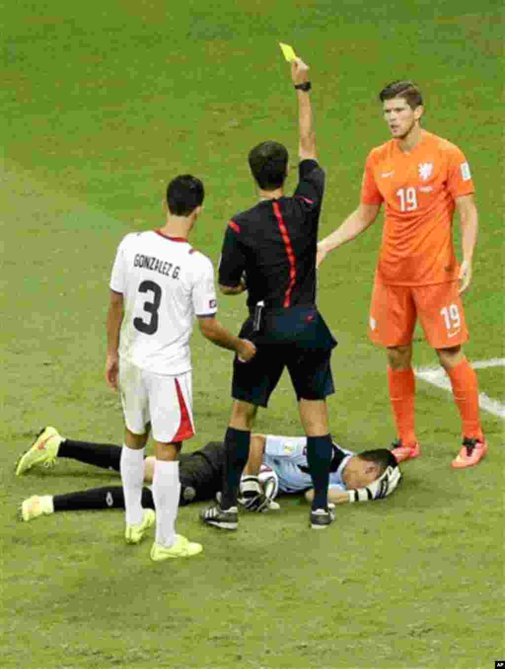
[[[144,434],[151,423],[157,442],[183,442],[195,434],[191,371],[170,376],[140,369],[122,359],[119,375],[126,427]]]

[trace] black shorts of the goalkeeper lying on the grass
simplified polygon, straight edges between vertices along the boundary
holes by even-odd
[[[209,442],[193,453],[179,456],[179,478],[181,486],[180,505],[214,498],[222,488],[222,468],[224,462],[223,442]],[[184,496],[186,488],[195,493]]]

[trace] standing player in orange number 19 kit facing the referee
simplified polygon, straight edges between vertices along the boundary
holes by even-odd
[[[462,352],[468,330],[460,294],[472,280],[478,229],[472,175],[458,147],[421,127],[424,106],[416,84],[392,82],[379,98],[392,138],[369,153],[361,203],[319,242],[318,265],[329,251],[365,231],[384,203],[369,336],[387,350],[389,397],[398,436],[393,453],[406,460],[420,452],[411,367],[412,334],[419,318],[450,378],[462,419],[463,444],[452,466],[468,467],[488,451],[476,374]],[[454,209],[462,230],[461,265],[452,244]]]

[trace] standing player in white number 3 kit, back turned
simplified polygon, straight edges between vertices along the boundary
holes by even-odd
[[[166,222],[155,231],[126,235],[116,254],[107,316],[106,378],[120,389],[125,420],[121,476],[125,539],[138,543],[154,524],[142,508],[144,448],[152,432],[156,465],[154,561],[202,551],[175,532],[180,481],[178,453],[194,435],[189,339],[194,317],[214,344],[250,360],[255,346],[234,337],[216,320],[214,270],[186,237],[202,211],[204,188],[191,175],[173,179],[166,191]]]

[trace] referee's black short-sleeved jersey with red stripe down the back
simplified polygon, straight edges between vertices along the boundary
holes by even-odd
[[[219,265],[219,283],[238,286],[246,272],[247,305],[267,308],[315,303],[317,228],[325,173],[316,161],[299,165],[293,197],[264,200],[228,223]]]

